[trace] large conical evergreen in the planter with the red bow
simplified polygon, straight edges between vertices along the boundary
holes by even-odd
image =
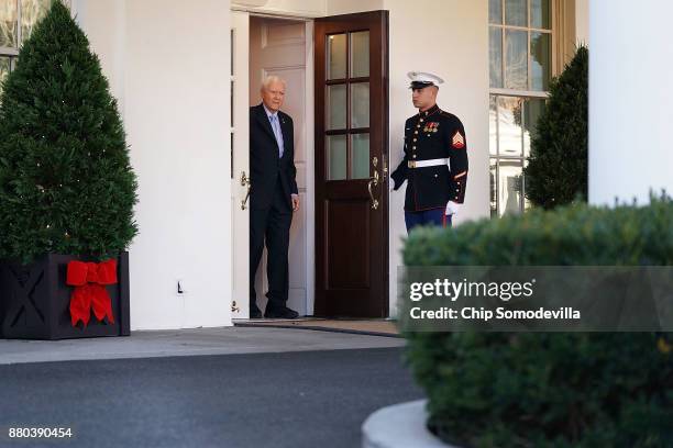
[[[100,63],[55,1],[0,98],[0,257],[106,257],[137,233],[136,180]]]

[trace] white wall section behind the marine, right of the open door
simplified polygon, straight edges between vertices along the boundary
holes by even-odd
[[[455,220],[489,216],[488,168],[488,1],[385,0],[390,11],[390,161],[402,158],[405,121],[418,113],[411,103],[411,70],[444,79],[438,104],[465,126],[470,173],[465,204]],[[405,186],[390,193],[390,314],[397,310],[397,268],[406,237]]]

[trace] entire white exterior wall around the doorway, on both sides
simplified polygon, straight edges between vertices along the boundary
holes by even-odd
[[[486,0],[247,0],[231,5],[304,16],[389,10],[389,169],[402,156],[405,120],[417,112],[406,74],[437,72],[445,79],[439,105],[461,117],[468,142],[467,194],[456,224],[488,216]],[[75,0],[74,9],[120,101],[139,175],[132,328],[230,325],[230,3]],[[402,206],[404,189],[390,193],[393,315],[406,236]],[[188,290],[184,299],[175,292],[177,279]]]

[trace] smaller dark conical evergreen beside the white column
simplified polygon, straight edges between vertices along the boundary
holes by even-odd
[[[523,173],[526,197],[544,209],[587,198],[588,49],[581,46],[550,86],[550,97],[532,133]]]

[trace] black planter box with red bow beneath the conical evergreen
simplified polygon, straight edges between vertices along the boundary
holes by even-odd
[[[71,339],[129,336],[129,253],[117,259],[117,284],[106,287],[114,324],[99,322],[91,311],[89,324],[70,322],[68,262],[84,257],[48,254],[31,265],[0,262],[0,337],[5,339]]]

